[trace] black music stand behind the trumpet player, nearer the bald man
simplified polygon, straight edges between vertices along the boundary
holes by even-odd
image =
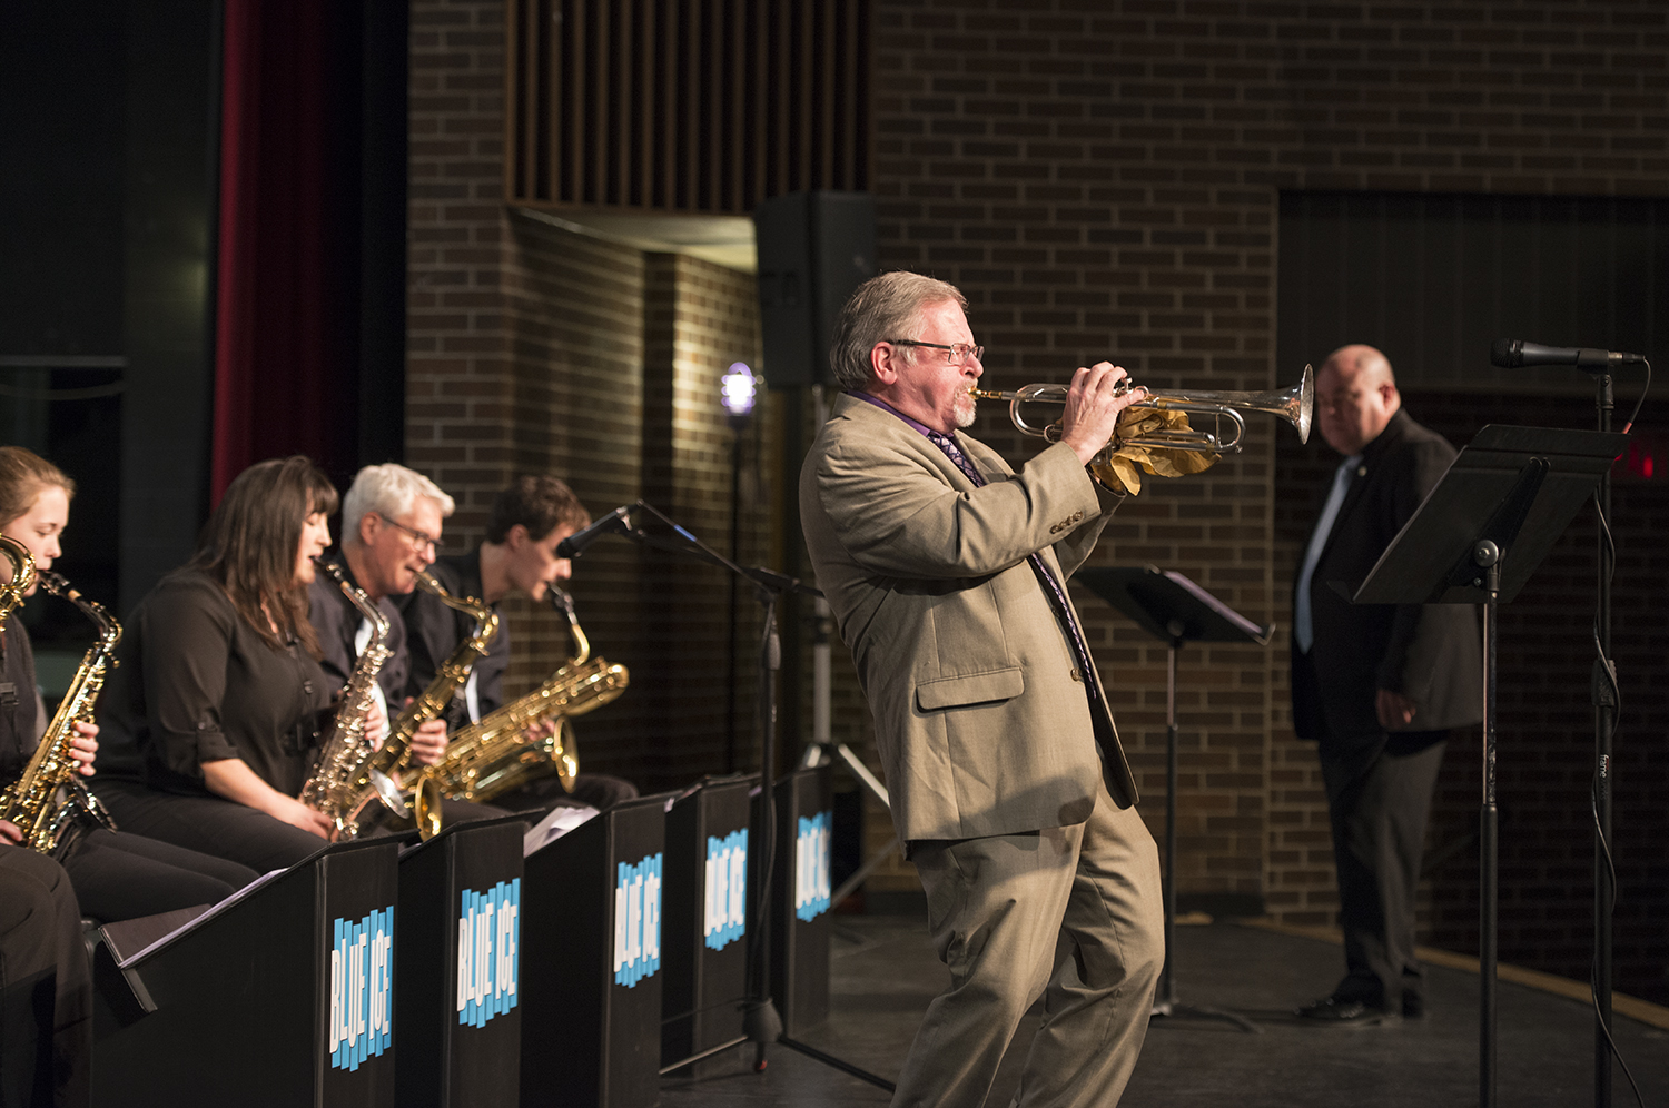
[[[1177,651],[1183,642],[1255,642],[1268,646],[1275,624],[1260,627],[1177,571],[1158,566],[1082,569],[1075,574],[1138,627],[1170,646],[1165,667],[1165,968],[1160,970],[1155,1016],[1225,1020],[1242,1031],[1262,1030],[1245,1016],[1183,1005],[1170,973],[1170,934],[1177,923]]]

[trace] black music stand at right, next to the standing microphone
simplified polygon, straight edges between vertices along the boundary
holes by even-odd
[[[1487,426],[1354,592],[1354,604],[1484,604],[1484,796],[1479,809],[1479,1105],[1495,1103],[1495,609],[1510,602],[1629,437]]]

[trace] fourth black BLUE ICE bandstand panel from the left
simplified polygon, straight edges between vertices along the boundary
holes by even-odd
[[[661,1065],[741,1038],[748,995],[749,794],[758,774],[709,779],[666,816]]]

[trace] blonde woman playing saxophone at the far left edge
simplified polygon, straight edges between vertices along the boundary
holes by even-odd
[[[52,562],[62,557],[73,494],[75,482],[52,462],[22,447],[0,447],[0,534],[20,542],[35,557],[38,572],[50,571]],[[40,596],[38,587],[30,587],[25,596]],[[22,612],[7,621],[0,667],[0,784],[10,784],[23,773],[47,724],[35,692],[33,647]],[[70,756],[78,763],[78,773],[90,779],[98,728],[88,723],[70,728],[75,733]],[[18,826],[0,819],[0,849],[27,849],[13,846],[20,839]],[[108,831],[88,821],[65,831],[55,856],[70,874],[80,909],[107,923],[212,904],[255,878],[247,866],[127,831]]]

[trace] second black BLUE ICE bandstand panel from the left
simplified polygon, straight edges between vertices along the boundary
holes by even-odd
[[[401,1108],[516,1103],[526,829],[519,816],[457,823],[401,851]]]

